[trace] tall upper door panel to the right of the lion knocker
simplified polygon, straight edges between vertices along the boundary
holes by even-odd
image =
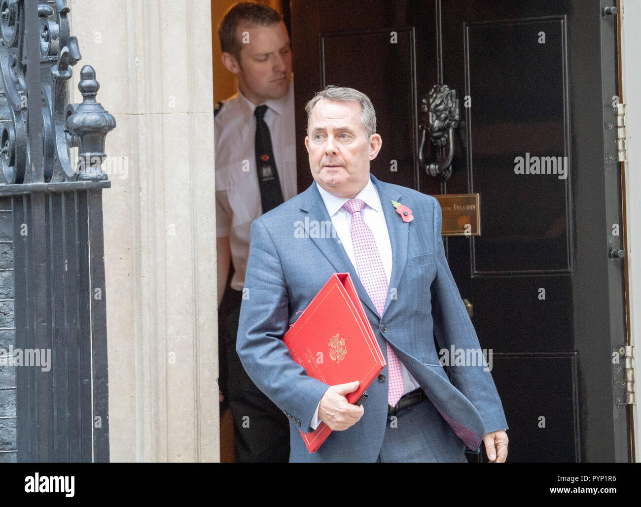
[[[565,17],[472,22],[464,30],[465,95],[473,104],[465,109],[470,177],[472,191],[483,197],[483,236],[472,239],[472,272],[567,273]],[[515,173],[517,157],[523,170],[532,165],[538,172],[544,163],[546,174]],[[538,164],[528,164],[530,157]],[[556,174],[558,163],[563,175]]]

